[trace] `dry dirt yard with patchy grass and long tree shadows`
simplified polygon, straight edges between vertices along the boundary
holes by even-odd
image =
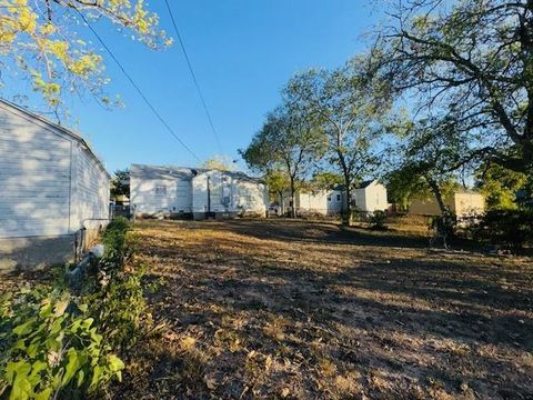
[[[529,259],[318,222],[137,230],[167,330],[124,399],[533,398]]]

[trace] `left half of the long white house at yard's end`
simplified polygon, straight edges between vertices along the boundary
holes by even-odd
[[[132,174],[130,196],[138,213],[192,212],[190,179],[142,179]]]

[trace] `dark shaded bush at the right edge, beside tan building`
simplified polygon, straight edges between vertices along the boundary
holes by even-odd
[[[533,242],[533,210],[490,210],[470,230],[477,240],[517,251]]]

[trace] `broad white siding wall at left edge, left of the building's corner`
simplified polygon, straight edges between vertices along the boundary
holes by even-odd
[[[72,141],[0,103],[0,238],[69,233]]]

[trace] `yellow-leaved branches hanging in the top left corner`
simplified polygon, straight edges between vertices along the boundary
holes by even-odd
[[[80,26],[108,20],[150,48],[170,44],[159,18],[142,0],[0,0],[0,68],[27,77],[58,108],[66,92],[89,91],[100,103],[102,56],[80,38]]]

